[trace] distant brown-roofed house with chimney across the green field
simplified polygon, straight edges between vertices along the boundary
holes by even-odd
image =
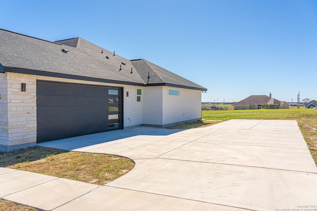
[[[234,110],[243,109],[289,109],[286,101],[272,98],[271,93],[267,95],[251,95],[233,105]]]

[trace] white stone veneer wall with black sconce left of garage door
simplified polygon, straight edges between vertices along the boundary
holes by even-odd
[[[36,130],[36,76],[0,73],[0,151],[35,146]]]

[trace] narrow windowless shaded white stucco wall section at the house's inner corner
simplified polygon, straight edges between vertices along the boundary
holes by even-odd
[[[143,101],[143,124],[163,125],[162,92],[162,86],[145,87]]]

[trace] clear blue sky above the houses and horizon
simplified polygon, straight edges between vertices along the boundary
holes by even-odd
[[[202,101],[317,100],[317,0],[1,0],[0,28],[81,37],[208,88]]]

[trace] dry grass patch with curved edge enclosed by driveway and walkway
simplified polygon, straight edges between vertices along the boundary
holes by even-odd
[[[0,155],[0,167],[25,170],[97,185],[129,172],[134,163],[113,155],[32,147]]]

